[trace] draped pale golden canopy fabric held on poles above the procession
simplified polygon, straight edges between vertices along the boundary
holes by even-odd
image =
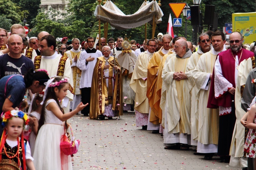
[[[96,6],[94,16],[102,22],[109,22],[111,26],[122,30],[140,27],[147,22],[152,24],[154,16],[155,23],[158,24],[161,22],[163,12],[156,1],[151,1],[143,3],[136,13],[125,15],[112,1],[107,1],[103,6]]]

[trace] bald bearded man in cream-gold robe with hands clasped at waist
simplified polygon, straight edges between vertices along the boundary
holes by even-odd
[[[166,61],[162,70],[162,109],[165,130],[165,149],[188,150],[190,145],[190,97],[188,78],[185,75],[187,62],[192,55],[186,40],[174,44],[175,57]],[[164,94],[163,94],[164,93]],[[181,146],[180,146],[181,144]]]

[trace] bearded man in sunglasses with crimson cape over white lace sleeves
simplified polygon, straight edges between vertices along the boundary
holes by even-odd
[[[215,39],[213,48],[220,49],[225,41]],[[222,38],[225,40],[225,37]],[[234,103],[237,85],[238,66],[244,59],[253,56],[251,51],[242,48],[243,37],[240,32],[232,32],[229,36],[230,49],[218,54],[212,74],[208,108],[219,108],[218,155],[221,162],[229,163],[229,149],[232,133],[236,123]]]

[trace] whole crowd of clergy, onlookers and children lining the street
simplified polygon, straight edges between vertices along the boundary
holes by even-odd
[[[164,149],[192,147],[203,159],[217,155],[253,170],[255,43],[242,43],[240,32],[226,41],[207,31],[197,46],[161,33],[141,46],[121,36],[57,44],[45,31],[28,38],[19,24],[10,33],[0,28],[0,159],[23,169],[72,169],[59,149],[68,119],[111,120],[135,110],[136,126],[162,134]]]

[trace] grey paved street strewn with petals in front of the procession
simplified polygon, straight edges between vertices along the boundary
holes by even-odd
[[[116,117],[115,117],[116,118]],[[74,170],[152,169],[152,170],[240,170],[219,163],[218,157],[203,160],[193,151],[165,150],[163,137],[135,125],[135,113],[120,119],[89,120],[75,115],[70,119],[74,135],[81,140],[74,155]]]

